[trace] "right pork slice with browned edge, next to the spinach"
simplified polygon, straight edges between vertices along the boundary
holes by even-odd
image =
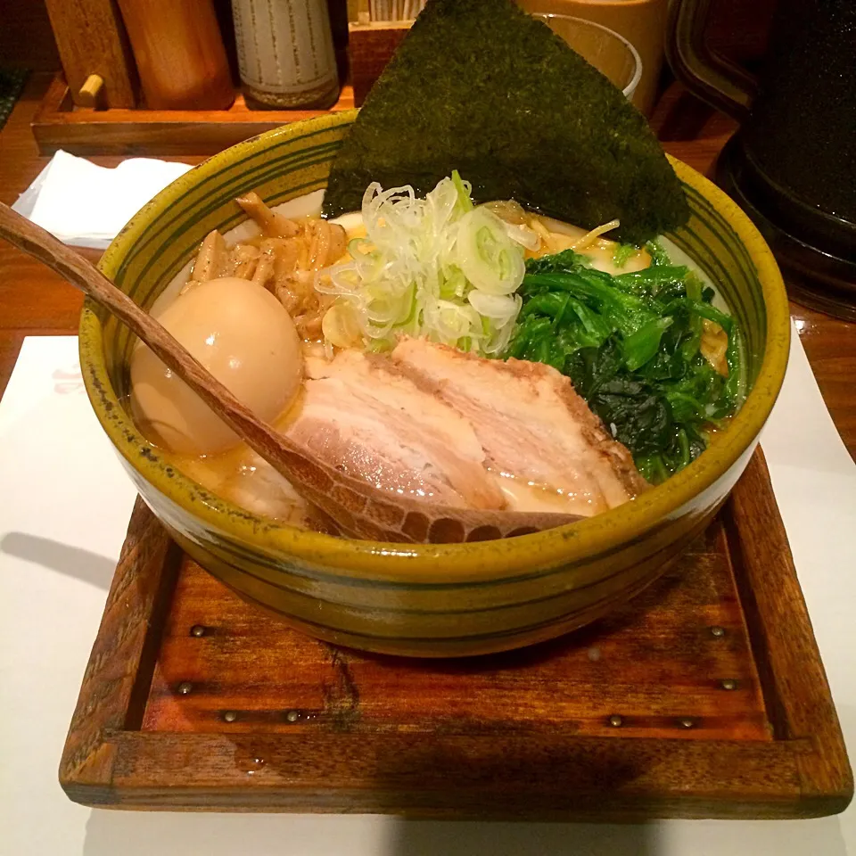
[[[392,360],[473,425],[509,506],[590,516],[645,490],[630,451],[551,366],[403,339]]]

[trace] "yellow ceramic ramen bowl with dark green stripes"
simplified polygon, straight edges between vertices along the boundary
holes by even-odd
[[[211,229],[243,218],[235,196],[255,189],[276,204],[323,188],[355,115],[278,128],[192,169],[131,220],[104,255],[104,273],[150,307]],[[418,546],[335,539],[250,514],[187,478],[137,431],[125,405],[131,337],[87,303],[80,362],[92,406],[178,543],[300,630],[371,651],[458,656],[578,628],[644,588],[704,528],[743,472],[785,374],[788,307],[770,250],[734,202],[672,162],[692,218],[669,237],[737,315],[751,392],[712,449],[611,512],[522,538]]]

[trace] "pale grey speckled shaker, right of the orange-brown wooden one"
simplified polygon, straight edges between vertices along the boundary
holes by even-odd
[[[232,0],[244,93],[268,107],[335,103],[339,75],[326,0]]]

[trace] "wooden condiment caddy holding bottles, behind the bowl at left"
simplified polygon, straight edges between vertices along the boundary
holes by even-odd
[[[178,5],[190,2],[182,0]],[[222,74],[214,76],[210,95],[214,102],[228,104],[225,109],[153,109],[152,89],[140,86],[138,60],[131,53],[126,31],[144,21],[128,21],[126,28],[111,0],[78,0],[73,7],[62,0],[47,0],[47,4],[64,73],[53,80],[32,123],[42,154],[57,149],[81,155],[214,154],[271,128],[326,112],[254,109],[240,92],[235,75],[226,92]],[[123,11],[128,6],[133,14],[145,4],[123,0],[121,6]],[[90,21],[95,26],[88,26]],[[342,86],[330,110],[349,110],[363,102],[408,28],[408,23],[350,24],[348,64],[353,86],[350,82]],[[135,41],[140,38],[144,34]],[[161,57],[161,65],[163,61]],[[199,70],[201,62],[199,57],[186,58],[185,79]],[[139,72],[146,76],[143,69]],[[177,91],[180,95],[182,86]],[[175,86],[170,91],[159,86],[157,95],[169,100],[176,95]]]

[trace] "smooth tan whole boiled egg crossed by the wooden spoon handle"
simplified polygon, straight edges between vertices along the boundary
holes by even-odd
[[[259,418],[276,419],[300,390],[300,339],[282,303],[261,285],[234,276],[195,284],[155,317]],[[131,357],[131,408],[147,436],[183,455],[212,455],[239,442],[142,342]]]

